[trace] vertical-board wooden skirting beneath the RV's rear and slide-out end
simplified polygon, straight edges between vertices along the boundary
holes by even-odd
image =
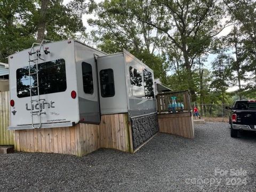
[[[127,114],[102,115],[99,125],[15,131],[15,149],[82,156],[99,148],[133,153]]]

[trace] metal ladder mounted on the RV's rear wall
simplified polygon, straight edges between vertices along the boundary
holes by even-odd
[[[41,122],[41,115],[46,114],[45,112],[42,112],[43,107],[41,105],[40,101],[45,101],[45,99],[40,99],[40,94],[39,94],[39,81],[38,81],[38,60],[44,60],[40,58],[41,56],[41,49],[43,49],[44,52],[44,47],[43,44],[45,42],[49,42],[46,40],[43,40],[41,43],[33,43],[30,49],[30,52],[28,52],[28,63],[29,63],[29,68],[28,68],[28,75],[29,75],[29,93],[30,93],[30,103],[31,103],[31,125],[34,129],[38,129],[41,127],[42,122]],[[35,46],[39,45],[39,49],[35,51]],[[35,55],[34,55],[35,54]],[[30,58],[32,55],[34,55],[35,58]],[[33,62],[33,64],[31,64]],[[34,68],[33,73],[31,73],[31,67]],[[32,86],[31,85],[31,75],[36,75],[36,85]],[[33,77],[32,77],[33,78]],[[34,79],[35,80],[35,79]],[[35,83],[35,82],[34,82]],[[37,99],[32,99],[32,92],[31,90],[37,88]],[[37,102],[38,105],[38,110],[34,110],[33,107],[33,102]],[[34,110],[34,111],[33,111]],[[34,116],[39,116],[39,124],[36,123],[37,126],[34,124]]]

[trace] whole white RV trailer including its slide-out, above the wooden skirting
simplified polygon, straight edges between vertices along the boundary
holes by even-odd
[[[107,55],[77,41],[52,42],[10,55],[9,66],[11,130],[156,113],[153,70],[125,50]]]

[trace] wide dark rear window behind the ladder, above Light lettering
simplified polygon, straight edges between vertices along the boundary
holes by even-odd
[[[36,65],[30,66],[30,73],[36,72]],[[29,97],[29,67],[19,68],[16,71],[17,96]],[[37,86],[37,76],[30,76],[31,86]],[[38,64],[39,93],[49,94],[62,92],[67,89],[65,60],[57,59]],[[37,87],[31,89],[32,96],[37,95]]]

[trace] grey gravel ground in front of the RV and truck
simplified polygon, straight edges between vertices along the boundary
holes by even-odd
[[[256,191],[255,143],[256,134],[234,139],[227,123],[206,123],[194,140],[159,133],[136,154],[0,155],[0,191]]]

